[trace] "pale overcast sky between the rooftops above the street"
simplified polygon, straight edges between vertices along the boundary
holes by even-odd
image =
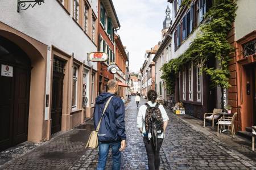
[[[117,34],[130,52],[129,69],[138,72],[145,51],[161,40],[167,0],[113,0],[113,3],[121,24]]]

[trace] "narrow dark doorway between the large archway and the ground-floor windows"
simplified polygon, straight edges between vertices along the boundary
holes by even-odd
[[[63,97],[63,79],[64,79],[64,61],[53,59],[53,76],[52,76],[52,105],[51,118],[52,129],[51,133],[56,133],[61,130],[62,117],[62,97]]]

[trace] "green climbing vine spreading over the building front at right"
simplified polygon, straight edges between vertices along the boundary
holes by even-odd
[[[191,0],[184,0],[181,7],[188,6]],[[221,88],[230,87],[228,61],[233,52],[232,45],[226,37],[232,29],[236,17],[237,5],[234,0],[214,0],[213,6],[205,14],[200,33],[197,34],[187,50],[178,58],[165,63],[161,70],[162,79],[166,81],[167,89],[174,94],[176,76],[185,63],[200,65],[201,71],[208,74],[212,81],[211,86]],[[210,58],[216,58],[217,68],[208,67],[205,63]]]

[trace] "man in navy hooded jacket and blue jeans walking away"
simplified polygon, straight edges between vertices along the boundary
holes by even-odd
[[[101,120],[100,130],[98,131],[99,156],[97,170],[105,169],[106,160],[109,154],[109,148],[112,148],[113,170],[119,170],[121,164],[121,151],[126,147],[125,134],[125,105],[122,99],[115,96],[118,91],[118,83],[115,80],[109,80],[108,92],[101,94],[96,98],[94,108],[94,128],[97,128],[98,122],[102,116],[105,104],[109,97],[108,108]]]

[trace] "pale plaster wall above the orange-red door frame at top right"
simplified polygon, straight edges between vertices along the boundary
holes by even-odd
[[[236,40],[239,40],[256,29],[256,1],[237,0],[237,6],[234,26]]]

